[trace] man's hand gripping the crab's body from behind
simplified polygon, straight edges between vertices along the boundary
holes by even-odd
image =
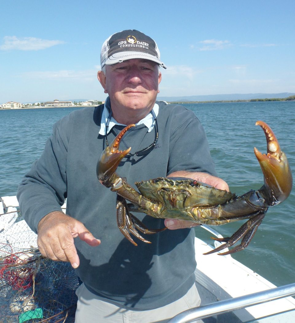
[[[229,187],[224,180],[222,180],[219,177],[209,175],[207,173],[179,171],[179,172],[171,173],[167,177],[192,178],[192,179],[197,180],[199,182],[203,182],[203,183],[209,184],[211,186],[214,186],[220,190],[229,191]],[[177,219],[165,219],[164,224],[170,230],[192,228],[194,226],[200,225],[199,223],[195,223],[192,221],[177,220]]]

